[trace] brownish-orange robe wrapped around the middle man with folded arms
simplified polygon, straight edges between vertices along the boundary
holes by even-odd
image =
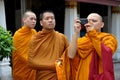
[[[32,37],[29,46],[29,64],[37,70],[37,80],[57,80],[55,61],[68,47],[67,37],[42,29]]]

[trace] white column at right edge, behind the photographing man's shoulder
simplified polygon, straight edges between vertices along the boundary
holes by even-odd
[[[112,27],[111,33],[116,35],[118,40],[118,49],[113,56],[114,59],[120,60],[120,7],[115,6],[112,8]]]

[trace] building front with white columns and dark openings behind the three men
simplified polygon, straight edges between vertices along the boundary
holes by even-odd
[[[102,15],[105,22],[103,31],[113,33],[120,42],[119,4],[117,0],[0,0],[0,25],[14,34],[21,27],[21,17],[26,10],[32,10],[39,17],[42,10],[52,9],[56,16],[55,29],[71,40],[74,18],[86,18],[89,13],[97,12]],[[35,28],[41,29],[39,19]],[[120,59],[119,45],[120,43],[115,59]]]

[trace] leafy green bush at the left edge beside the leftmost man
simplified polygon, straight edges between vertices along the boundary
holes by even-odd
[[[11,32],[0,26],[0,61],[2,61],[3,58],[11,56],[13,49],[13,37]]]

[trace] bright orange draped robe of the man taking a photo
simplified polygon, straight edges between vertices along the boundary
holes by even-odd
[[[102,46],[104,44],[104,46]],[[56,69],[58,72],[58,80],[93,80],[94,67],[93,63],[93,53],[96,51],[98,55],[98,74],[103,72],[103,63],[102,60],[106,60],[105,62],[112,61],[110,58],[104,59],[102,58],[102,54],[104,53],[102,48],[108,50],[108,55],[113,55],[117,49],[117,39],[109,33],[97,33],[95,30],[90,31],[84,37],[79,38],[77,42],[77,54],[74,59],[68,58],[68,49],[66,49],[62,64],[57,63]],[[104,53],[106,54],[106,53]],[[112,57],[111,57],[112,59]],[[112,63],[112,62],[110,62]],[[114,78],[114,70],[113,64],[109,64],[109,71],[112,72]],[[105,68],[107,69],[107,68]]]

